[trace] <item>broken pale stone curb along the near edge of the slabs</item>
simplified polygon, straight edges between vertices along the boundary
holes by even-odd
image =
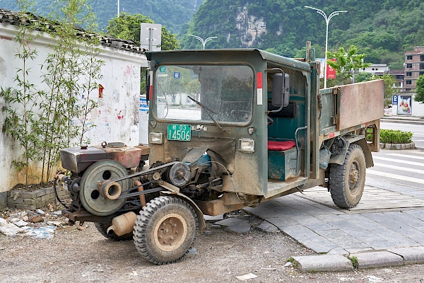
[[[296,256],[293,259],[295,260],[295,265],[303,273],[351,271],[354,268],[366,269],[423,263],[424,247],[373,250],[351,253],[348,257],[343,255],[307,255]]]

